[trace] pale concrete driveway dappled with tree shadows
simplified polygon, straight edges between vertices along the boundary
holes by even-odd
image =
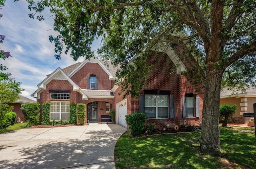
[[[114,169],[114,148],[126,128],[90,124],[0,134],[3,169]]]

